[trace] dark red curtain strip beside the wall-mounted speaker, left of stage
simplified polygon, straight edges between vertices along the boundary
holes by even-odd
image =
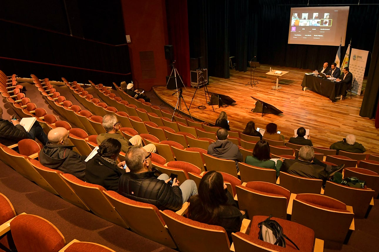
[[[176,67],[183,83],[190,87],[187,1],[166,0],[166,11],[169,44],[174,47]]]

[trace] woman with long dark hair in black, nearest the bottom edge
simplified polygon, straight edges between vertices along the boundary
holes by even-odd
[[[189,198],[188,218],[224,227],[231,241],[232,232],[238,232],[241,228],[244,212],[238,209],[233,196],[227,191],[221,173],[205,173],[198,192],[198,195]]]

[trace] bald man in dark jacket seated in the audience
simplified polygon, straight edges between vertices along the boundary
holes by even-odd
[[[39,152],[39,161],[50,169],[70,173],[84,181],[86,169],[86,156],[80,156],[72,151],[73,145],[69,145],[69,131],[58,127],[49,131],[49,142]]]

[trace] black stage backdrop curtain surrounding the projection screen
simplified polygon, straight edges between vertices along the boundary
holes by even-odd
[[[228,65],[227,62],[214,60],[217,56],[224,56],[223,54],[226,52],[230,53],[227,57],[236,57],[233,61],[237,63],[239,71],[246,71],[247,62],[254,56],[257,56],[256,60],[263,64],[311,70],[319,68],[323,62],[334,62],[338,46],[288,44],[291,7],[306,7],[307,3],[308,0],[189,1],[190,30],[194,29],[191,26],[195,23],[197,26],[201,26],[199,24],[201,19],[194,19],[202,14],[202,10],[199,11],[199,9],[205,5],[206,16],[203,18],[203,25],[208,26],[205,39],[208,40],[206,53],[209,61],[209,75],[228,76],[228,74],[220,72]],[[345,46],[341,47],[343,56],[350,39],[352,48],[371,52],[373,49],[379,6],[362,5],[377,3],[374,0],[360,0],[360,5],[355,5],[357,3],[358,0],[335,0],[334,2],[314,0],[309,2],[313,6],[330,6],[331,4],[348,6],[351,4],[346,42]],[[224,8],[227,6],[228,9],[225,10]],[[222,22],[222,18],[229,21],[225,24]],[[218,28],[215,29],[215,27]],[[200,40],[199,33],[190,32],[189,39],[190,54],[192,54],[192,51],[196,50],[193,44]],[[218,55],[215,55],[215,51]],[[213,63],[219,66],[213,65]]]

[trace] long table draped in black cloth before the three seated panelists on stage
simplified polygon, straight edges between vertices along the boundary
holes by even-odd
[[[313,92],[328,97],[333,102],[335,102],[336,96],[344,96],[346,93],[346,83],[332,82],[331,80],[322,79],[321,77],[314,76],[313,74],[304,74],[301,87],[307,87]]]

